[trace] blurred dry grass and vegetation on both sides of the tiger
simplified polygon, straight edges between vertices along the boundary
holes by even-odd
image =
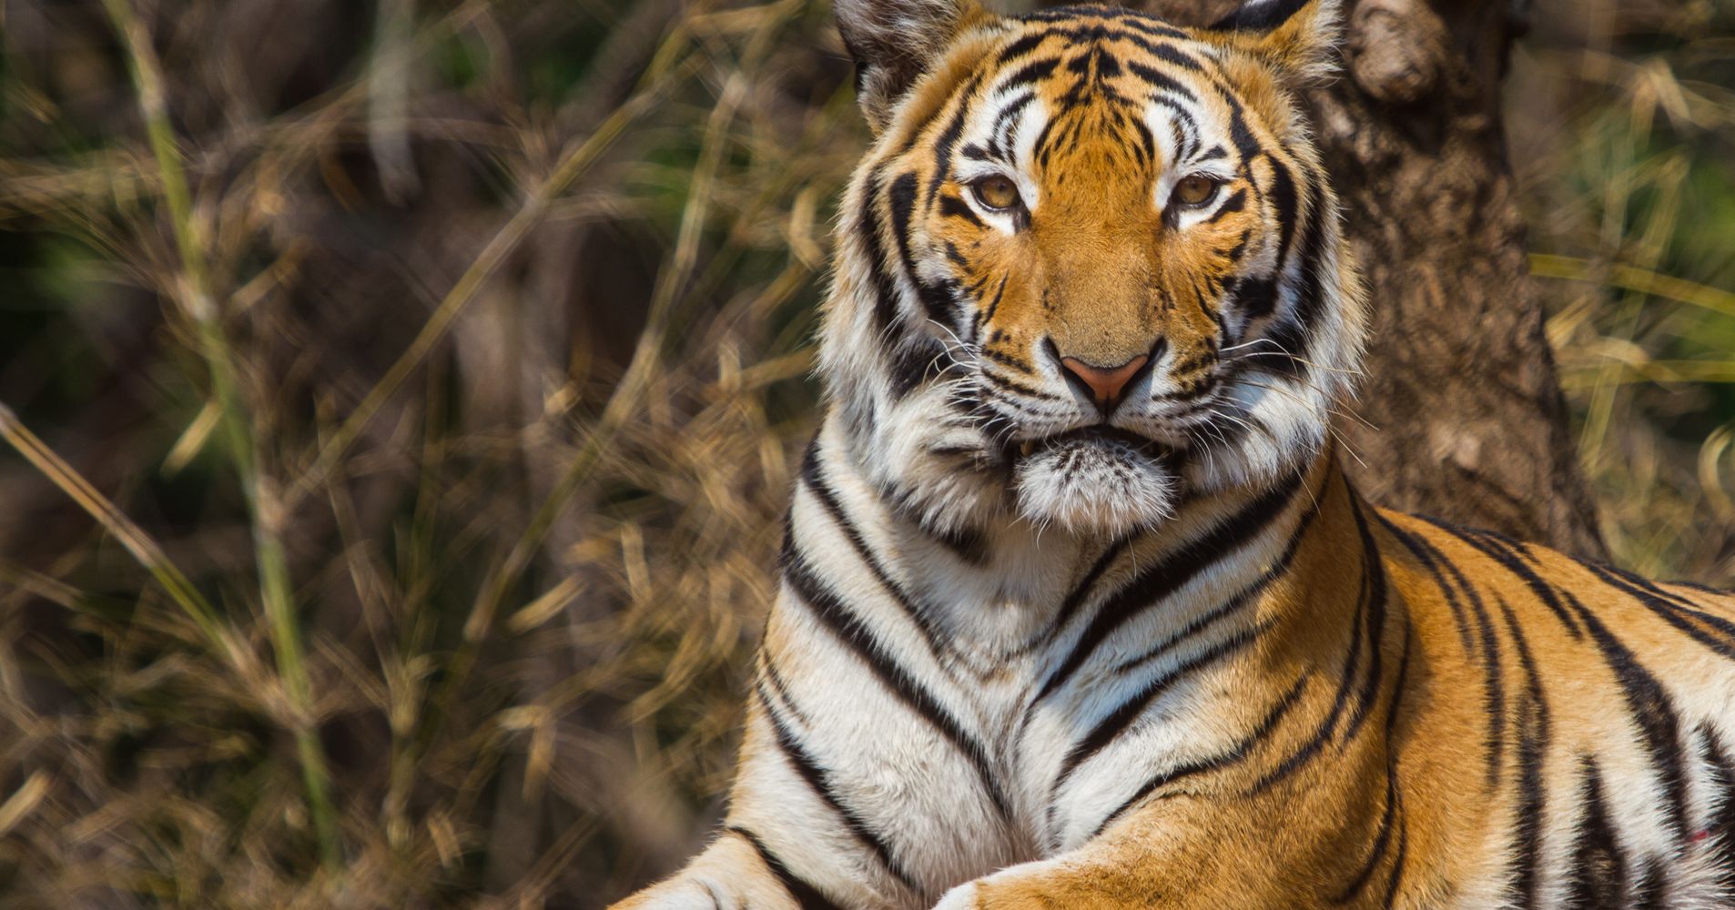
[[[1735,581],[1735,5],[1544,2],[1617,560]],[[599,907],[718,811],[829,222],[822,2],[0,0],[0,907]]]

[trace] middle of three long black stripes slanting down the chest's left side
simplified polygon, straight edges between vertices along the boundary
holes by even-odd
[[[975,766],[977,777],[982,780],[982,790],[987,792],[994,808],[1003,816],[1008,815],[1006,794],[1001,792],[999,783],[994,780],[987,749],[965,731],[958,718],[892,657],[890,650],[874,638],[866,622],[814,575],[807,558],[793,544],[786,544],[784,549],[782,577],[814,615],[861,657],[862,664],[868,666],[887,690],[897,695],[900,702],[920,714],[921,719],[946,738],[953,740],[958,751]]]

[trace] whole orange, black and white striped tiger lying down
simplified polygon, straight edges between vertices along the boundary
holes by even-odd
[[[1735,596],[1346,480],[1336,0],[833,9],[822,418],[723,823],[618,908],[1735,907]]]

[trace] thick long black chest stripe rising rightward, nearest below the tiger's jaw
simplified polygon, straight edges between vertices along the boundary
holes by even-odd
[[[1204,536],[1176,548],[1166,560],[1140,572],[1131,582],[1116,591],[1097,610],[1091,624],[1072,645],[1065,660],[1043,681],[1043,688],[1036,693],[1031,705],[1034,707],[1055,688],[1070,679],[1097,647],[1116,629],[1156,607],[1162,598],[1197,577],[1199,572],[1216,565],[1263,532],[1267,525],[1287,510],[1296,491],[1301,489],[1301,480],[1303,471],[1291,473],[1263,496],[1247,503],[1241,511],[1216,523]]]

